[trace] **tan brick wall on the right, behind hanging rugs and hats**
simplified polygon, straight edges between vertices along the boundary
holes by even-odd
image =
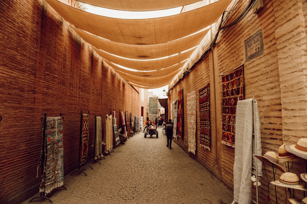
[[[238,17],[248,2],[239,1],[224,25]],[[245,62],[244,81],[245,98],[253,98],[255,94],[255,99],[258,101],[262,154],[267,151],[278,154],[278,148],[283,143],[296,143],[299,138],[306,137],[306,4],[305,1],[296,0],[264,0],[265,6],[258,14],[250,10],[238,24],[222,30],[216,46],[209,54],[194,65],[187,76],[178,76],[173,82],[175,86],[169,87],[171,89],[169,103],[177,99],[178,91],[183,88],[184,104],[186,104],[186,94],[196,90],[196,155],[189,154],[230,189],[233,188],[234,148],[220,144],[222,93],[220,73],[226,74],[246,60],[244,40],[261,29],[264,54]],[[217,26],[215,25],[215,28]],[[206,37],[210,39],[210,33]],[[194,56],[196,57],[188,61],[188,68],[193,66],[200,54]],[[198,128],[200,125],[198,90],[208,82],[212,135],[210,151],[199,147]],[[186,110],[184,121],[187,121]],[[186,124],[184,137],[187,137]],[[188,151],[183,140],[178,139],[175,142]],[[285,164],[280,165],[286,169]],[[258,189],[259,203],[265,203],[268,195],[265,171],[269,180],[273,177],[272,168],[266,166],[262,171],[264,176],[260,180],[262,185]],[[305,172],[303,159],[294,160],[291,172],[297,175]],[[278,179],[281,173],[277,171],[275,178]],[[255,195],[255,186],[253,186],[253,200],[256,200]],[[277,187],[277,196],[278,203],[286,203],[282,187]],[[302,192],[296,191],[296,197],[303,198]],[[270,185],[270,199],[272,203],[276,202],[273,185]]]

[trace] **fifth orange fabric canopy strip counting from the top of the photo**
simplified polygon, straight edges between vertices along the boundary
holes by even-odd
[[[121,72],[125,72],[127,74],[132,74],[134,76],[142,76],[142,77],[159,77],[159,76],[164,76],[164,75],[167,75],[167,74],[170,74],[176,70],[180,70],[182,68],[182,66],[185,64],[186,61],[183,61],[177,65],[173,65],[171,67],[167,67],[165,69],[159,69],[159,70],[154,70],[154,71],[148,71],[148,72],[144,72],[144,71],[131,71],[131,70],[128,70],[128,69],[124,69],[124,68],[121,68],[119,66],[116,66],[114,64],[112,64],[111,62],[105,60],[105,62],[111,66],[114,70],[118,70],[118,71],[121,71]]]

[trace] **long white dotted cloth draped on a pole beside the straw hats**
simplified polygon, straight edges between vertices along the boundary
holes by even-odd
[[[235,117],[235,162],[233,166],[234,201],[251,203],[251,175],[262,176],[262,161],[253,157],[261,155],[261,135],[258,104],[253,99],[238,101]],[[254,121],[255,114],[255,121]],[[255,136],[253,129],[255,125]]]

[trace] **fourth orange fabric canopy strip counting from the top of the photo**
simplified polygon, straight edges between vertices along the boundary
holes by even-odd
[[[172,65],[175,65],[179,62],[185,61],[188,59],[191,54],[194,52],[195,48],[188,50],[187,52],[177,54],[171,57],[156,59],[156,60],[131,60],[126,58],[117,57],[106,52],[103,52],[95,47],[92,47],[97,54],[105,58],[108,61],[111,61],[117,65],[123,67],[128,67],[136,70],[150,71],[163,69]]]

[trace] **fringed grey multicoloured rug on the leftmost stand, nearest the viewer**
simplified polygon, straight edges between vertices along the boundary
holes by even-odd
[[[43,124],[44,141],[39,164],[43,165],[39,192],[47,195],[54,188],[64,184],[63,119],[62,117],[47,117],[45,124],[45,128]]]

